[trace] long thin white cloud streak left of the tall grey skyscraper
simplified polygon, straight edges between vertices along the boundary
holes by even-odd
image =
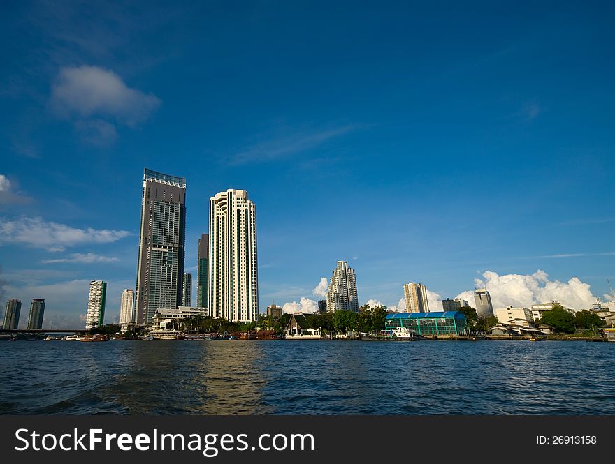
[[[106,244],[131,235],[126,230],[96,230],[92,227],[77,229],[53,223],[42,218],[22,216],[16,220],[0,218],[0,246],[22,244],[48,251],[61,251],[66,247]]]

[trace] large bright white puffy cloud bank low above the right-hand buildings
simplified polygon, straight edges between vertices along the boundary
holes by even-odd
[[[486,287],[491,295],[493,308],[505,306],[525,306],[558,300],[560,304],[574,309],[586,309],[595,303],[590,285],[573,277],[567,282],[550,280],[549,275],[541,270],[534,274],[498,275],[493,271],[483,273],[483,279],[475,279],[477,287]],[[470,306],[475,306],[474,292],[468,290],[458,294],[466,299]]]

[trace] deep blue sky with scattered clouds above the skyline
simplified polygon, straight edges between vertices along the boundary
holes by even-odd
[[[435,299],[479,278],[500,304],[615,284],[608,3],[0,8],[2,306],[72,323],[103,279],[113,320],[144,167],[187,178],[187,268],[209,197],[248,190],[261,310],[318,299],[337,260],[361,304],[409,281]]]

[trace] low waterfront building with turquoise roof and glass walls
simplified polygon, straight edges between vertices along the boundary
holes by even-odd
[[[391,313],[384,320],[387,330],[406,327],[419,336],[469,336],[468,320],[459,311]]]

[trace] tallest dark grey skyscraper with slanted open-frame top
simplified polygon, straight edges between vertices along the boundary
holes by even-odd
[[[186,179],[145,170],[136,283],[136,323],[182,305]]]

